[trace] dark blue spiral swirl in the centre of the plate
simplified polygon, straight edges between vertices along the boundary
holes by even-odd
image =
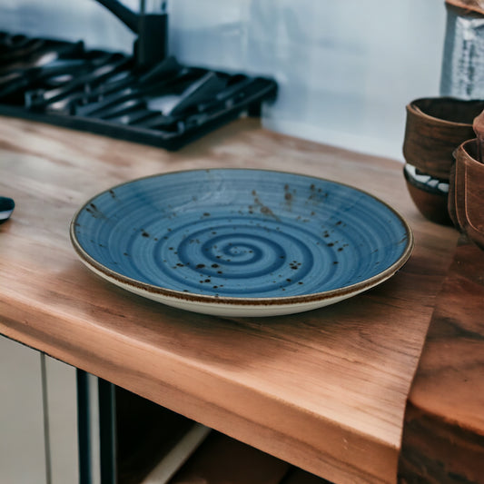
[[[191,228],[174,229],[166,243],[153,248],[157,270],[182,291],[252,297],[283,293],[313,265],[305,242],[270,223],[258,227],[243,219],[219,219]]]

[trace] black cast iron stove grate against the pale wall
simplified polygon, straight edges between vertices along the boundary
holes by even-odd
[[[167,57],[142,67],[126,54],[0,33],[0,114],[177,150],[243,115],[260,115],[277,84]]]

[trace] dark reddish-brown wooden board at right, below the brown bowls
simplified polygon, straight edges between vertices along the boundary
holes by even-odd
[[[465,238],[410,390],[399,474],[402,482],[484,483],[484,251]]]

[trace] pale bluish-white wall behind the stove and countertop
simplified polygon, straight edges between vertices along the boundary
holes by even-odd
[[[439,94],[444,0],[172,0],[169,11],[183,63],[277,79],[263,115],[276,131],[402,160],[405,104]],[[94,0],[0,0],[0,29],[133,42]]]

